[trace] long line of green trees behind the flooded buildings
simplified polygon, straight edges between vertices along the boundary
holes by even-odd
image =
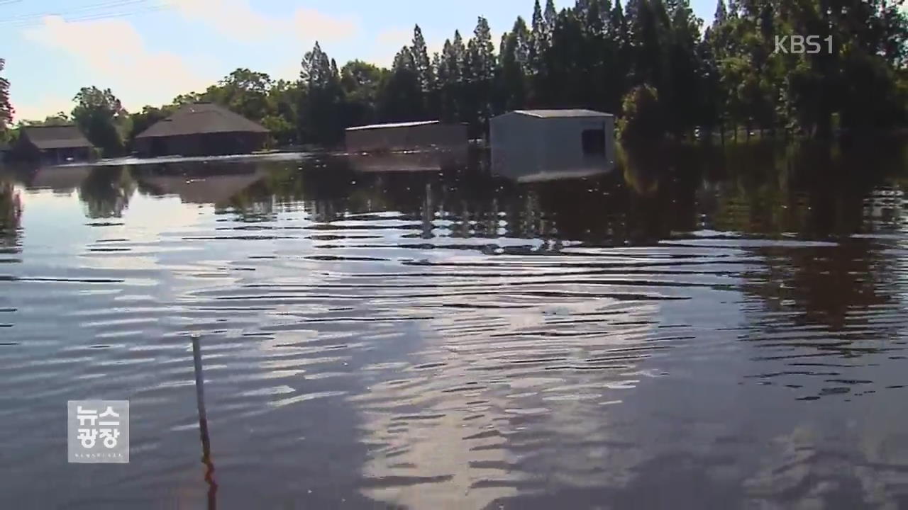
[[[237,69],[202,93],[137,113],[89,87],[72,113],[44,123],[77,123],[110,153],[195,101],[262,123],[277,145],[331,146],[351,125],[424,119],[467,123],[479,137],[489,118],[521,108],[617,113],[626,142],[888,129],[908,123],[904,1],[718,0],[705,26],[688,0],[577,0],[560,11],[537,0],[529,22],[518,17],[498,44],[480,16],[469,37],[455,32],[429,55],[416,25],[390,68],[339,66],[316,43],[296,81]],[[814,35],[823,51],[780,51],[791,35]],[[0,126],[9,122],[7,88],[0,81]]]

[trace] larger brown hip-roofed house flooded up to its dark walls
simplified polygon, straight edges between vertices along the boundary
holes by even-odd
[[[183,104],[135,137],[140,156],[242,154],[262,149],[269,131],[214,103]]]

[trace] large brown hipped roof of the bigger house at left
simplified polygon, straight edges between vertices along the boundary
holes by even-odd
[[[136,138],[155,136],[181,136],[206,132],[268,132],[258,123],[219,104],[183,104],[179,110],[163,121],[136,135]]]

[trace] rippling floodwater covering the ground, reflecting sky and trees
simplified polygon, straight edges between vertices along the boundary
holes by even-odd
[[[906,162],[5,172],[0,507],[906,508]]]

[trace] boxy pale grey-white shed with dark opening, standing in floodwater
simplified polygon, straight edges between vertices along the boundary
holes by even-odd
[[[592,110],[516,110],[490,123],[492,172],[589,174],[615,165],[615,116]]]

